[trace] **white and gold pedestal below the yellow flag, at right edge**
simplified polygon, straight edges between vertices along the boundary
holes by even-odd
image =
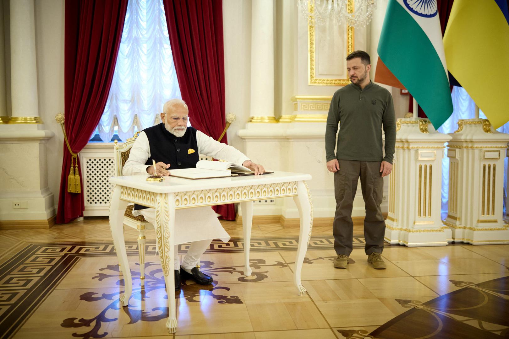
[[[486,119],[462,119],[449,134],[449,207],[444,224],[455,241],[509,243],[503,222],[503,177],[509,134]]]

